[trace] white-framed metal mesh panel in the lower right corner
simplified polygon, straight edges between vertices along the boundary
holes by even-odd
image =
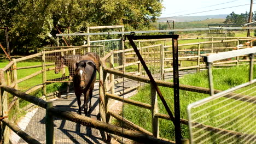
[[[192,143],[255,143],[256,83],[188,108]]]

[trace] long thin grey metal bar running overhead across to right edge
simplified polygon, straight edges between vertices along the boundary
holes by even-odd
[[[222,29],[222,30],[235,30],[235,29],[256,29],[256,27],[212,27],[212,28],[185,28],[185,29],[165,29],[154,31],[133,31],[136,33],[166,33],[166,32],[185,32],[185,31],[208,31],[210,29]],[[131,32],[101,32],[101,33],[69,33],[69,34],[56,34],[57,37],[61,36],[79,36],[79,35],[105,35],[105,34],[131,34]]]

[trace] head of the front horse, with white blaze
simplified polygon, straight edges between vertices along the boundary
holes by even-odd
[[[74,83],[78,86],[79,89],[86,89],[90,87],[91,84],[94,84],[96,79],[96,64],[92,61],[80,61],[75,64],[75,76]],[[88,87],[88,88],[86,88]]]

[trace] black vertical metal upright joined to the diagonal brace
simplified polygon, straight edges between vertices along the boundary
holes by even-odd
[[[179,108],[179,61],[178,61],[178,39],[172,39],[172,58],[173,58],[173,94],[174,94],[174,126],[175,141],[181,143],[181,114]]]

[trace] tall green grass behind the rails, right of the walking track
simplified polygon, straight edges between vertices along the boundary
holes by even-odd
[[[226,69],[213,69],[214,77],[214,88],[225,90],[233,86],[240,85],[248,81],[248,65],[232,67]],[[254,79],[256,78],[256,68],[254,67]],[[184,76],[179,80],[181,84],[199,86],[208,88],[208,76],[207,71],[202,71],[197,74],[190,74]],[[162,95],[164,95],[167,104],[170,106],[173,112],[173,89],[160,87]],[[180,101],[181,101],[181,118],[188,119],[187,106],[197,100],[209,97],[208,94],[201,94],[196,92],[180,91]],[[141,101],[142,103],[150,104],[150,87],[146,86],[140,89],[140,91],[131,98],[132,100]],[[158,98],[158,107],[160,113],[167,114],[161,100]],[[142,115],[143,113],[143,115]],[[129,119],[131,122],[143,127],[149,131],[152,131],[152,118],[151,112],[146,109],[139,108],[137,106],[132,106],[125,104],[124,106],[124,117]],[[184,137],[189,137],[188,126],[181,125],[182,135]],[[166,121],[164,119],[159,119],[159,130],[160,136],[165,137],[170,140],[174,140],[174,125],[171,121]]]

